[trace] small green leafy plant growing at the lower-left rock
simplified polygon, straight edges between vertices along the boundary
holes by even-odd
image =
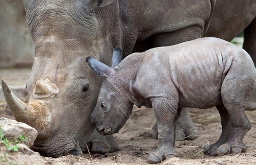
[[[18,151],[19,150],[19,146],[18,144],[20,144],[21,142],[25,142],[27,141],[28,138],[25,137],[24,135],[20,135],[18,137],[18,139],[14,139],[14,142],[9,141],[6,137],[5,137],[5,133],[2,130],[2,128],[0,127],[0,144],[4,144],[5,147],[9,150],[9,151]]]

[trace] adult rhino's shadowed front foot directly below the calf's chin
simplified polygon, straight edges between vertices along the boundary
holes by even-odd
[[[104,154],[119,150],[119,146],[113,135],[101,135],[94,129],[88,142],[89,150],[92,153]]]

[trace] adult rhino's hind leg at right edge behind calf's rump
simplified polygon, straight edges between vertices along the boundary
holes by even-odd
[[[254,65],[256,66],[256,17],[250,25],[244,30],[244,45],[243,49],[249,53]],[[252,93],[251,98],[245,105],[246,110],[256,109],[256,90]]]

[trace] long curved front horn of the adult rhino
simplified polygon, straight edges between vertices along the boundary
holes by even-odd
[[[50,129],[52,115],[45,102],[36,100],[29,104],[24,103],[14,95],[4,80],[2,80],[2,89],[7,105],[18,122],[34,127],[38,134],[42,135]]]

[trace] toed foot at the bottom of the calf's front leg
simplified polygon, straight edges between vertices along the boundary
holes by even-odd
[[[157,149],[152,152],[147,159],[148,163],[159,163],[172,157],[177,157],[177,152],[174,148],[170,149]]]

